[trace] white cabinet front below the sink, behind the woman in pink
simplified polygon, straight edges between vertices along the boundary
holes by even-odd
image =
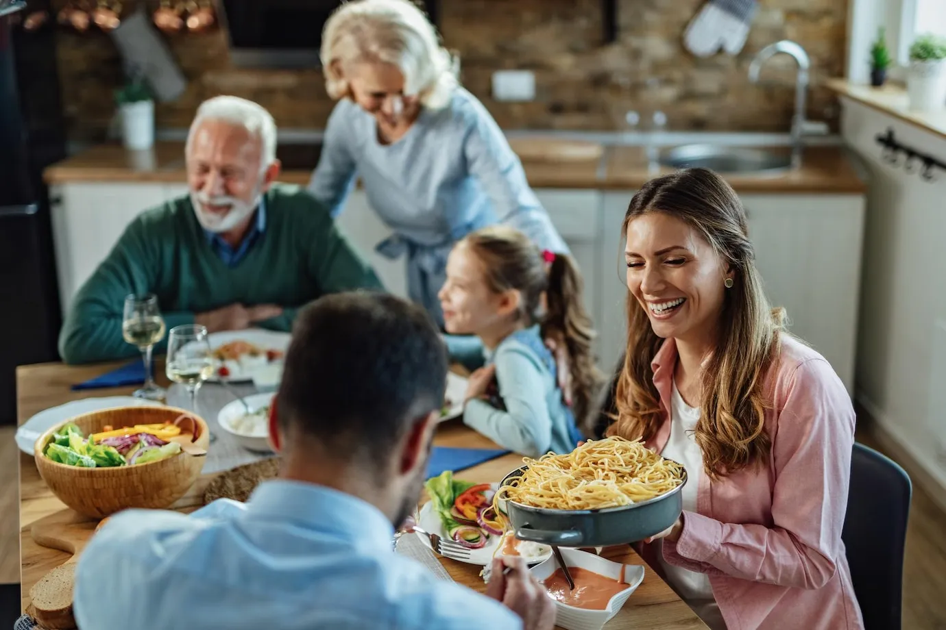
[[[626,341],[621,224],[631,196],[631,191],[604,195],[598,329],[602,366],[607,369],[615,366]],[[782,194],[742,199],[769,300],[785,307],[789,330],[824,355],[852,393],[864,197]]]

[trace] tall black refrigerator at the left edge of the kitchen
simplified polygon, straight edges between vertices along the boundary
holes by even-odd
[[[21,26],[26,4],[0,0],[0,424],[16,422],[16,367],[56,361],[61,326],[43,182],[66,155],[56,31]]]

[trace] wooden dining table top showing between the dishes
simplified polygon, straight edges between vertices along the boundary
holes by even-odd
[[[92,366],[41,364],[18,367],[16,372],[18,424],[23,424],[29,417],[44,409],[70,400],[130,395],[134,389],[131,386],[72,390],[73,384],[84,382],[121,365],[121,363]],[[157,374],[162,374],[164,370],[156,369],[155,371]],[[161,378],[158,381],[165,386],[168,384]],[[461,448],[499,448],[494,442],[467,428],[459,420],[442,423],[434,437],[434,444]],[[74,522],[76,527],[89,528],[93,521],[82,519],[53,495],[40,476],[32,456],[22,451],[19,456],[21,601],[22,609],[26,611],[30,587],[36,584],[47,571],[58,567],[71,557],[68,553],[37,544],[30,533],[32,525],[40,519],[61,519]],[[520,455],[512,453],[502,455],[479,466],[457,472],[457,478],[476,483],[499,482],[507,472],[517,468],[521,461]],[[204,489],[215,477],[216,474],[201,475],[197,483],[172,506],[172,509],[191,512],[200,507],[203,504]],[[631,565],[644,564],[629,545],[604,548],[601,553],[615,562]],[[440,558],[440,561],[450,577],[458,584],[481,592],[485,590],[486,585],[480,575],[482,567],[448,558]],[[657,575],[657,572],[646,566],[643,582],[631,594],[617,616],[608,621],[605,626],[606,630],[690,630],[706,627],[692,609],[680,600],[674,590]]]

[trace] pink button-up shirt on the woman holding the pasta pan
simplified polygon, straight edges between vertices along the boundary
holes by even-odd
[[[668,339],[652,366],[665,419],[647,446],[663,450],[670,436],[676,344]],[[642,553],[710,576],[728,630],[858,630],[864,627],[841,541],[848,505],[854,410],[844,384],[824,357],[781,336],[768,381],[766,430],[772,439],[764,468],[710,481],[701,475],[696,512],[683,513],[674,543]]]

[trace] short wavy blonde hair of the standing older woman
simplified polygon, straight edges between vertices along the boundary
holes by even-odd
[[[325,89],[335,99],[351,96],[343,71],[359,62],[394,64],[404,75],[404,94],[431,110],[446,107],[457,85],[452,57],[409,0],[346,2],[325,23],[320,56]]]

